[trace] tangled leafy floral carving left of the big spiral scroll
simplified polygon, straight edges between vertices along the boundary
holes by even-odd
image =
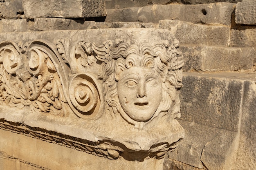
[[[3,42],[0,48],[1,101],[60,114],[65,98],[56,68],[43,48],[20,48]],[[50,112],[52,111],[52,112]],[[63,114],[63,113],[62,113]]]

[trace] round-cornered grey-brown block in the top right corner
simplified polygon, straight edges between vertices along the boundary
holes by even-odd
[[[236,5],[236,24],[256,25],[256,1],[243,0]]]

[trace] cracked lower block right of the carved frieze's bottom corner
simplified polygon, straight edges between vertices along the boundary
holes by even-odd
[[[170,159],[208,170],[231,169],[238,147],[238,132],[181,120],[180,124],[186,137],[176,150],[168,152]]]

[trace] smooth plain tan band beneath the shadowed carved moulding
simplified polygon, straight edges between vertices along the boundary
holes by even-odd
[[[164,159],[148,159],[143,162],[138,161],[134,163],[133,161],[127,161],[125,159],[109,160],[73,148],[66,148],[61,145],[48,143],[2,129],[0,129],[0,136],[0,152],[4,152],[7,157],[18,158],[23,162],[38,166],[40,170],[58,170],[60,168],[61,170],[141,170],[144,168],[162,170],[157,166],[163,164],[164,161]],[[8,138],[6,138],[6,136],[8,136]],[[150,161],[152,161],[152,163],[150,163]],[[4,162],[4,164],[0,164],[0,169],[2,170],[8,170],[4,168],[8,166],[12,166],[13,168],[20,164],[18,161]],[[155,164],[153,167],[147,166],[153,164]],[[31,168],[27,168],[27,170],[31,170]]]

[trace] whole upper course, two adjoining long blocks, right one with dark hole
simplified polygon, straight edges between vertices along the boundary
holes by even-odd
[[[106,22],[152,22],[181,20],[200,24],[231,24],[234,3],[211,4],[158,4],[142,8],[108,9]]]

